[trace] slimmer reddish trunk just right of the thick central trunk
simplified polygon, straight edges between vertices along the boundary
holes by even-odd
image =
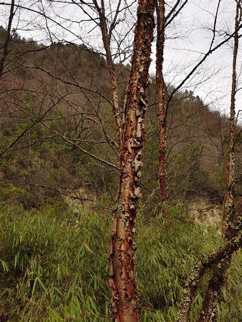
[[[164,41],[165,41],[165,5],[164,0],[156,2],[157,41],[156,41],[156,97],[159,119],[159,185],[161,202],[168,197],[166,172],[166,102],[163,77]]]

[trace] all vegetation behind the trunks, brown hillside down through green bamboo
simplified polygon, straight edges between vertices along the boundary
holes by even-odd
[[[7,30],[0,28],[4,55]],[[0,321],[110,321],[108,250],[118,148],[106,59],[83,44],[50,46],[11,32],[0,79]],[[131,65],[116,63],[125,99]],[[169,206],[160,202],[156,78],[147,90],[136,222],[141,320],[175,321],[200,255],[223,243],[229,116],[191,90],[167,113]],[[165,97],[174,86],[166,84]],[[239,119],[238,119],[239,120]],[[235,173],[242,168],[236,120]],[[242,182],[233,188],[235,202]],[[217,321],[239,321],[241,253],[232,257]],[[199,282],[199,318],[211,272]]]

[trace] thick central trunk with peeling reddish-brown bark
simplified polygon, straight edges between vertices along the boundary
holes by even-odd
[[[117,209],[109,244],[109,285],[113,318],[117,322],[136,322],[137,311],[134,251],[135,218],[144,144],[143,117],[149,78],[151,42],[154,29],[154,2],[140,0],[134,37],[131,72],[124,103],[125,122],[120,152]]]

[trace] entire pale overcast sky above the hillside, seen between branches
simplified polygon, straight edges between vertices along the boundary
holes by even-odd
[[[128,1],[131,3],[131,0]],[[50,2],[47,1],[19,1],[18,3],[23,7],[30,7],[42,12],[44,10],[51,19],[45,21],[41,15],[21,9],[16,13],[13,25],[22,37],[32,37],[35,40],[45,41],[45,43],[50,40],[50,37],[53,40],[66,39],[76,43],[86,42],[104,52],[99,27],[94,22],[82,21],[83,19],[88,20],[89,17],[83,13],[80,7],[74,4],[63,7],[64,2],[62,0],[58,3],[52,2],[55,6],[53,10],[50,9]],[[109,15],[111,19],[112,6],[115,6],[116,0],[111,3],[107,0],[105,2],[107,4],[107,13],[109,12],[109,6],[111,8]],[[11,1],[6,1],[5,3],[10,4]],[[168,12],[169,6],[172,6],[174,3],[175,0],[166,1],[166,12]],[[203,53],[207,52],[212,38],[211,28],[214,23],[218,3],[219,0],[188,0],[181,13],[166,30],[164,74],[167,83],[175,86],[178,85],[183,77],[195,66],[196,62],[202,58]],[[224,39],[224,32],[229,34],[234,31],[235,4],[235,0],[220,1],[216,30],[220,31],[221,36],[216,34],[214,45]],[[9,8],[6,5],[0,6],[0,23],[3,25],[6,25]],[[92,10],[86,7],[85,10],[91,17],[96,17],[96,13]],[[135,15],[136,3],[134,2],[129,10],[120,13],[119,18],[122,22],[119,23],[117,33],[114,35],[116,39],[123,37],[127,30],[132,28]],[[124,16],[125,19],[123,19]],[[69,20],[64,21],[64,18]],[[71,22],[70,20],[78,21],[78,23]],[[45,28],[42,29],[46,24],[49,27],[50,33]],[[60,25],[64,28],[60,28]],[[133,33],[131,32],[120,44],[121,49],[131,44],[132,38]],[[115,48],[115,42],[113,44]],[[238,75],[241,70],[241,48],[242,46],[240,45],[237,57]],[[212,108],[228,113],[231,92],[232,55],[233,41],[231,40],[209,56],[198,70],[198,73],[195,74],[195,77],[191,77],[183,89],[187,88],[194,91],[195,95],[199,95]],[[155,73],[155,43],[152,58],[151,73]],[[241,77],[238,81],[242,82]],[[242,109],[241,105],[242,90],[236,96],[236,111]],[[240,122],[241,120],[242,118],[240,118]]]

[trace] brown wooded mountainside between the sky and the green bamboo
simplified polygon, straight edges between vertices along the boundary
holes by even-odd
[[[18,36],[10,46],[1,93],[1,150],[9,147],[1,161],[6,190],[1,202],[20,202],[28,209],[46,202],[46,198],[60,197],[60,192],[68,195],[78,191],[84,193],[78,195],[80,198],[85,199],[90,193],[105,194],[114,200],[116,170],[108,163],[116,165],[116,132],[104,58],[85,46],[72,44],[56,44],[43,50],[43,45]],[[119,94],[124,98],[129,65],[117,68]],[[155,81],[149,97],[143,203],[158,186]],[[39,119],[41,122],[37,122]],[[236,133],[239,130],[237,125]],[[191,92],[176,95],[168,114],[167,171],[171,199],[203,196],[212,203],[222,203],[227,133],[225,115],[210,110]],[[16,144],[10,147],[15,140]],[[239,169],[240,138],[235,149]],[[158,198],[159,193],[154,192],[149,201],[156,203]]]

